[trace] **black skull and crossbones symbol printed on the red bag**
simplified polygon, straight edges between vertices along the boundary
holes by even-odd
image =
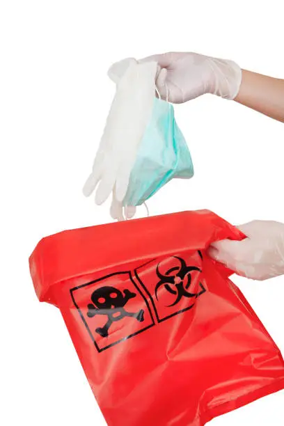
[[[129,290],[120,292],[115,287],[100,287],[92,293],[90,297],[93,303],[88,304],[88,317],[93,318],[95,315],[107,315],[107,323],[103,327],[98,327],[95,331],[102,337],[109,336],[109,328],[113,322],[120,321],[125,317],[133,317],[139,322],[144,321],[144,311],[139,310],[137,313],[127,312],[124,306],[129,299],[136,297],[135,293]]]

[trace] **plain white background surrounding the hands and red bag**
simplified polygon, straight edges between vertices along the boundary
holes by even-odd
[[[113,97],[109,65],[192,51],[283,78],[283,33],[279,0],[1,1],[1,424],[105,424],[59,311],[36,299],[28,258],[45,235],[109,221],[108,205],[81,194]],[[166,185],[150,214],[284,222],[283,124],[210,95],[175,111],[196,175]],[[284,351],[284,277],[233,279]],[[283,396],[211,424],[283,425]]]

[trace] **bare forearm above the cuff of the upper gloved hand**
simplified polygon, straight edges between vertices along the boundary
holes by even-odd
[[[284,123],[284,80],[242,70],[235,101]]]

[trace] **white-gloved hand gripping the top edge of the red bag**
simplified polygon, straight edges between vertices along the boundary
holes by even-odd
[[[216,242],[208,254],[238,275],[253,280],[284,274],[284,223],[253,221],[238,228],[246,239]]]

